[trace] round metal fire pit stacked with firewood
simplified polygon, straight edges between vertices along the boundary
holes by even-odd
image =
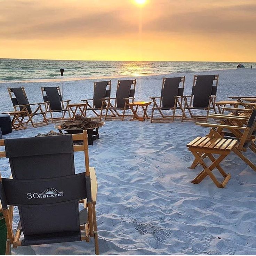
[[[104,122],[93,120],[91,118],[82,117],[81,115],[75,115],[75,120],[69,120],[64,123],[58,123],[54,126],[63,134],[83,133],[83,130],[87,130],[88,144],[93,145],[95,139],[99,139],[99,127],[105,125]]]

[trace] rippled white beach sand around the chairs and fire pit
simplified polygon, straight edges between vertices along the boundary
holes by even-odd
[[[198,72],[215,73],[220,75],[218,100],[256,95],[256,70]],[[194,73],[182,75],[186,75],[185,94],[190,94]],[[136,99],[159,96],[161,78],[138,78]],[[112,96],[116,82],[112,80]],[[11,110],[9,85],[0,86],[2,112]],[[26,83],[24,87],[30,102],[37,102],[42,101],[40,86],[54,85]],[[65,82],[64,98],[73,103],[92,95],[93,80]],[[30,127],[4,137],[29,137],[50,129],[52,124]],[[198,185],[190,182],[201,167],[188,169],[193,156],[186,144],[207,131],[192,122],[106,122],[100,129],[101,139],[89,146],[90,165],[96,168],[99,184],[96,209],[101,254],[255,254],[256,173],[231,153],[222,163],[231,173],[225,189],[218,189],[209,178]],[[255,154],[245,154],[256,161]],[[83,170],[81,156],[75,153],[78,172]],[[1,174],[8,177],[8,160],[0,161]],[[15,209],[14,224],[18,219]],[[94,254],[94,246],[91,239],[89,244],[20,247],[13,254]]]

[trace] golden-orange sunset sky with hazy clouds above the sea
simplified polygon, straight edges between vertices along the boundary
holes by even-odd
[[[256,62],[255,0],[0,0],[0,58]]]

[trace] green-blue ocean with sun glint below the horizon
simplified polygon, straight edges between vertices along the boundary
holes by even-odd
[[[58,79],[63,68],[65,78],[142,76],[172,72],[234,69],[236,62],[162,62],[162,61],[64,61],[46,59],[0,58],[0,81]],[[254,67],[256,63],[242,63]]]

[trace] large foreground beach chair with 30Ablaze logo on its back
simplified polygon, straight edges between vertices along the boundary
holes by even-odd
[[[83,145],[73,146],[82,140]],[[89,167],[86,130],[83,134],[0,140],[12,177],[0,177],[0,198],[8,238],[13,247],[73,242],[94,237],[97,180]],[[84,151],[85,172],[75,174],[74,154]],[[79,211],[79,204],[83,209]],[[8,207],[9,206],[9,207]],[[20,221],[13,233],[13,206]],[[23,233],[23,237],[21,234]]]

